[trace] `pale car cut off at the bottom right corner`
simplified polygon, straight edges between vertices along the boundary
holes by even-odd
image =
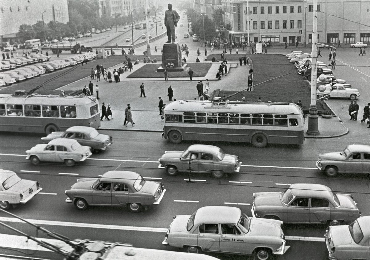
[[[329,259],[370,259],[370,216],[359,217],[346,226],[331,226],[324,234]]]

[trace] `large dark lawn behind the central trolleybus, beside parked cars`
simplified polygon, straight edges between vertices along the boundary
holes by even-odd
[[[245,97],[246,101],[258,101],[258,98],[261,97],[262,101],[293,101],[295,103],[301,99],[303,110],[308,113],[310,107],[310,85],[302,76],[297,74],[295,66],[289,63],[285,56],[268,54],[250,55],[249,57],[253,60],[253,84],[256,85],[254,91],[243,91],[233,95],[237,91],[220,90],[219,97],[222,97],[222,95],[226,95],[226,97],[233,95],[229,98],[232,101],[241,101],[243,97]],[[230,76],[232,76],[232,70],[230,71]],[[248,75],[245,75],[245,78],[240,81],[248,82],[247,77]],[[248,88],[248,84],[244,85],[245,88]],[[328,109],[326,103],[322,101],[317,102],[317,108],[319,111]]]

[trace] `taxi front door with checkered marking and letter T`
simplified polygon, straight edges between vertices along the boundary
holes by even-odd
[[[235,224],[221,224],[221,252],[245,253],[245,235]]]

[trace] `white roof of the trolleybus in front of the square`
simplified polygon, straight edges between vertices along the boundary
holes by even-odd
[[[277,102],[238,102],[230,101],[225,104],[212,101],[179,100],[166,105],[165,112],[217,112],[217,113],[260,113],[260,114],[302,114],[302,109],[294,103]]]

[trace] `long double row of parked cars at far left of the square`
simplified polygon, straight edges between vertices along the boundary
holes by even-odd
[[[74,66],[86,59],[93,60],[97,56],[95,53],[83,53],[50,61],[50,57],[44,54],[30,54],[27,57],[2,60],[0,61],[0,86],[11,85],[54,70]]]

